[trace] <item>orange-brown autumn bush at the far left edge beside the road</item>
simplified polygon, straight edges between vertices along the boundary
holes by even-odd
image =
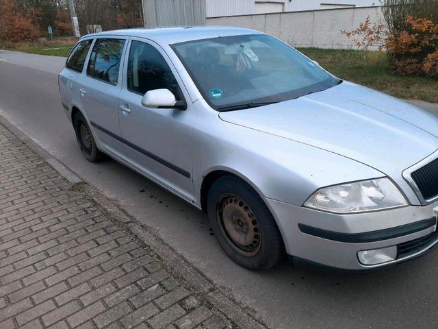
[[[14,0],[0,0],[0,40],[6,42],[32,41],[40,38],[38,26],[18,13]]]

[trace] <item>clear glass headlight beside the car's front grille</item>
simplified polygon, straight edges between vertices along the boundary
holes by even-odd
[[[304,206],[329,212],[365,212],[406,206],[402,193],[388,178],[321,188]]]

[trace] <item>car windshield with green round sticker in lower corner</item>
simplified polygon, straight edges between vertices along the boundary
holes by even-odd
[[[266,34],[181,42],[172,49],[215,110],[239,110],[295,99],[338,80]]]

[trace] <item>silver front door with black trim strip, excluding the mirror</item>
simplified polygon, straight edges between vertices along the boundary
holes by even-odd
[[[124,156],[152,180],[192,201],[194,108],[190,101],[186,110],[142,106],[144,94],[154,89],[166,88],[177,99],[190,98],[162,49],[142,39],[130,43],[118,99]]]

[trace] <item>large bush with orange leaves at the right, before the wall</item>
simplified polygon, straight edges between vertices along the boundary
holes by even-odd
[[[400,74],[438,77],[438,0],[383,0],[386,25],[370,17],[352,31],[342,30],[358,48],[386,49]]]

